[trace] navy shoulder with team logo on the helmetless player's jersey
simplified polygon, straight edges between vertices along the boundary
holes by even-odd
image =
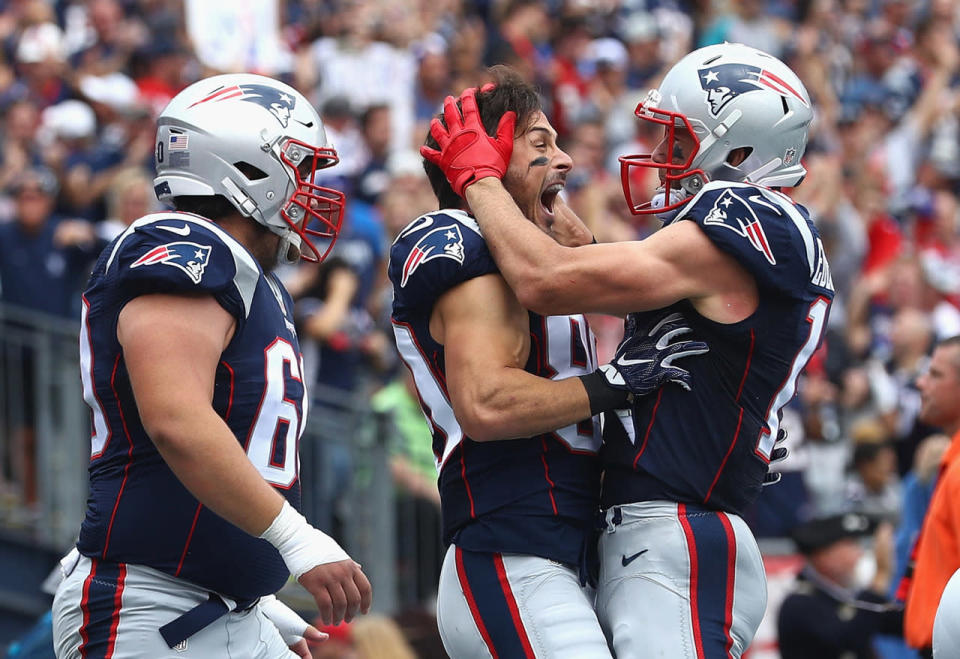
[[[388,267],[397,295],[432,302],[474,277],[498,272],[476,220],[461,210],[421,215],[393,242]]]

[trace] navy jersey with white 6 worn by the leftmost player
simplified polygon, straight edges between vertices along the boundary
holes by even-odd
[[[103,251],[83,296],[81,371],[93,433],[77,546],[237,599],[276,592],[288,576],[277,550],[198,503],[143,429],[117,319],[127,302],[149,293],[207,293],[236,318],[213,407],[267,482],[300,505],[297,440],[307,410],[290,296],[212,222],[157,213]]]

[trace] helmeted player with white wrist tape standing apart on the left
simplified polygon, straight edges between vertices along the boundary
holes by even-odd
[[[270,597],[290,574],[324,623],[369,609],[360,566],[297,512],[307,395],[270,272],[329,252],[343,195],[313,177],[337,160],[310,103],[262,76],[201,80],[160,114],[176,211],[118,236],[83,294],[90,496],[57,656],[292,656],[282,632],[323,635]]]

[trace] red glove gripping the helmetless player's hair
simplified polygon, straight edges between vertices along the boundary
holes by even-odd
[[[484,90],[485,91],[485,90]],[[513,129],[517,115],[505,112],[497,124],[497,136],[490,137],[477,110],[476,89],[470,87],[460,95],[463,116],[452,96],[443,101],[443,119],[430,122],[430,134],[440,150],[420,147],[420,155],[443,170],[453,191],[461,197],[471,183],[495,176],[502,179],[513,152]]]

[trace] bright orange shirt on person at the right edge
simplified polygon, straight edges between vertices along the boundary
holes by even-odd
[[[907,645],[914,648],[933,645],[933,619],[940,596],[957,569],[960,569],[960,432],[953,436],[950,448],[940,461],[940,477],[920,532],[903,622]]]

